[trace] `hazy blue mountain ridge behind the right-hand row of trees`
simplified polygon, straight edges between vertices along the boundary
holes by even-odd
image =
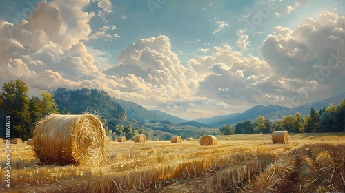
[[[295,115],[296,112],[301,113],[302,116],[306,116],[311,112],[311,108],[315,108],[316,110],[319,110],[320,108],[328,107],[329,104],[335,103],[339,105],[339,103],[342,102],[342,100],[345,99],[345,92],[341,92],[339,94],[335,94],[334,96],[329,97],[328,99],[324,99],[322,101],[315,101],[312,103],[307,103],[305,105],[293,107],[293,108],[287,108],[284,106],[279,105],[256,105],[253,108],[250,108],[246,110],[243,113],[235,113],[235,114],[229,114],[229,115],[221,115],[221,116],[213,116],[210,118],[200,118],[195,119],[195,121],[198,121],[200,123],[204,123],[206,125],[212,125],[215,127],[221,127],[223,125],[227,124],[236,124],[239,122],[246,121],[248,119],[254,120],[257,116],[263,115],[266,119],[282,119],[285,115]]]

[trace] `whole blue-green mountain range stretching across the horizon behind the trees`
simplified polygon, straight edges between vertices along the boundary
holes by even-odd
[[[100,114],[103,114],[106,119],[135,119],[139,122],[170,121],[170,123],[182,125],[221,127],[227,124],[234,125],[248,119],[254,120],[259,115],[263,115],[266,119],[273,121],[275,119],[282,119],[285,115],[294,115],[295,112],[299,112],[302,116],[306,116],[310,113],[312,107],[319,110],[324,107],[327,108],[331,103],[339,105],[339,103],[345,99],[345,92],[340,92],[322,101],[315,101],[293,108],[279,105],[256,105],[242,113],[199,118],[192,121],[172,116],[160,110],[147,110],[137,103],[115,99],[114,97],[108,96],[108,93],[96,89],[90,90],[83,88],[67,90],[66,88],[59,88],[55,91],[54,96],[55,102],[59,108],[64,108],[72,113],[96,110]]]

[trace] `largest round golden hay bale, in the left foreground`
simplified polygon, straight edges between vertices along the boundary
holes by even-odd
[[[105,159],[106,131],[93,114],[51,114],[36,124],[32,146],[41,163],[97,165]]]

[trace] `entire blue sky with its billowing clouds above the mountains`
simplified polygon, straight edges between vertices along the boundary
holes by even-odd
[[[0,84],[97,88],[184,119],[345,91],[345,1],[2,0]]]

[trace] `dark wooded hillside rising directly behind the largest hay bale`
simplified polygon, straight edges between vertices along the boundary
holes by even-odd
[[[112,101],[108,93],[102,90],[58,88],[54,92],[54,100],[61,113],[82,114],[95,111],[108,120],[127,120],[124,108],[121,108],[119,103]]]

